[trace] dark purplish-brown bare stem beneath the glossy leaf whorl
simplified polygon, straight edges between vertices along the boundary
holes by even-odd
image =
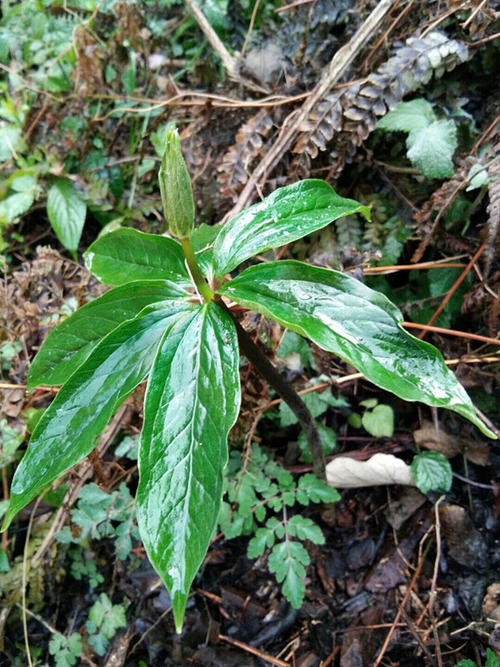
[[[309,443],[309,449],[313,459],[314,474],[320,479],[326,479],[326,462],[323,447],[321,445],[321,437],[319,435],[316,421],[312,416],[309,408],[300,398],[291,384],[278,373],[266,355],[257,347],[245,329],[243,329],[241,324],[233,316],[229,308],[227,308],[227,306],[222,301],[219,301],[218,303],[232,317],[236,325],[236,331],[238,332],[240,348],[245,357],[251,364],[253,364],[253,366],[255,366],[255,368],[269,382],[269,384],[274,389],[276,389],[278,394],[299,420],[299,423],[304,429],[304,433],[306,434],[307,442]]]

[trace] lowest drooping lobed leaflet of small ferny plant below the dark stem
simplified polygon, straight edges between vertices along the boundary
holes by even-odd
[[[295,609],[300,609],[304,601],[309,563],[309,554],[300,542],[287,540],[277,544],[269,555],[269,570],[279,583],[283,582],[283,594]]]

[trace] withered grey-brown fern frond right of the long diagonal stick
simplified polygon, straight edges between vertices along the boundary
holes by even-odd
[[[365,81],[327,94],[304,123],[293,152],[314,159],[333,143],[330,156],[340,172],[375,129],[379,117],[433,75],[440,77],[468,58],[465,44],[442,32],[410,37]]]

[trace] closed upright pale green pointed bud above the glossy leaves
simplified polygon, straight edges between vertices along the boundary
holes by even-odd
[[[178,239],[188,238],[194,227],[193,188],[182,156],[181,140],[175,128],[167,133],[167,145],[158,177],[168,230]]]

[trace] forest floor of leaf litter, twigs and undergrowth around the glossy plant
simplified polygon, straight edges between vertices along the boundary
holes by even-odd
[[[57,392],[26,391],[30,363],[51,328],[104,289],[82,253],[104,227],[163,231],[157,168],[171,121],[200,222],[228,220],[303,178],[370,205],[371,222],[340,219],[262,259],[307,260],[382,291],[500,424],[498,3],[207,0],[208,27],[192,2],[4,4],[3,513]],[[425,122],[447,128],[417,156],[412,128],[377,128],[414,100],[415,128],[429,113]],[[75,252],[46,213],[61,176],[87,205]],[[176,635],[135,522],[141,386],[96,452],[2,534],[0,665],[500,665],[497,442],[454,413],[378,389],[260,316],[241,321],[309,396],[329,461],[384,453],[409,463],[435,451],[450,461],[451,490],[339,489],[334,505],[291,509],[324,535],[308,543],[300,609],[266,554],[248,557],[255,525],[233,539],[218,532]],[[300,428],[272,388],[248,364],[241,376],[230,474],[251,474],[252,459],[295,480],[311,472]],[[383,435],[370,419],[376,406],[387,408]]]

